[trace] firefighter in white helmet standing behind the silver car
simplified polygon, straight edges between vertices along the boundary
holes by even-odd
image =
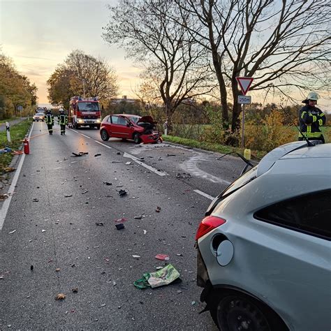
[[[302,101],[306,103],[304,107],[299,110],[300,130],[299,140],[304,140],[304,135],[308,140],[321,140],[325,142],[320,126],[325,124],[325,114],[321,109],[317,108],[318,94],[310,92],[307,99]]]

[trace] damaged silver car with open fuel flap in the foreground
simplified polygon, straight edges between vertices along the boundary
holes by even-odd
[[[331,144],[274,149],[196,234],[200,300],[220,330],[331,329]]]

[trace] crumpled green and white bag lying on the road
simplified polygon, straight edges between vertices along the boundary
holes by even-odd
[[[133,285],[136,288],[156,288],[171,284],[179,279],[180,274],[173,265],[168,264],[156,272],[146,272],[141,279],[136,280]]]

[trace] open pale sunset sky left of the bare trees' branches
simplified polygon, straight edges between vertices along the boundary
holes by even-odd
[[[0,0],[0,50],[38,87],[38,103],[48,103],[46,81],[72,50],[105,59],[119,77],[119,96],[134,96],[140,69],[124,50],[101,37],[107,4],[116,0]]]

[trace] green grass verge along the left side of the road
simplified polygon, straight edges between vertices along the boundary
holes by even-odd
[[[24,139],[25,135],[31,126],[31,121],[25,119],[24,121],[20,122],[19,124],[15,124],[10,126],[10,140],[7,140],[7,131],[0,131],[0,149],[8,146],[13,150],[17,150],[22,146],[22,140]],[[3,174],[4,168],[10,165],[10,162],[13,159],[13,154],[11,153],[3,153],[0,152],[0,175]]]

